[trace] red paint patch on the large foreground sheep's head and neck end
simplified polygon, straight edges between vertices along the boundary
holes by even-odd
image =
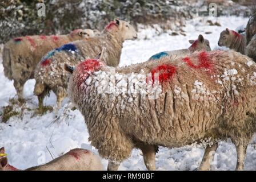
[[[86,78],[93,72],[98,71],[101,67],[102,63],[96,59],[87,59],[82,63],[78,64],[77,71],[78,71],[78,82],[77,86],[79,87]]]

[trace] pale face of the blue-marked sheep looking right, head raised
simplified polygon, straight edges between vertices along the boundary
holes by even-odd
[[[131,24],[119,19],[115,19],[114,21],[119,27],[123,40],[137,39],[137,32],[135,31],[134,27],[131,26]]]

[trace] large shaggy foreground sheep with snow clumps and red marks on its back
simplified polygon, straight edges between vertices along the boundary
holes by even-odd
[[[72,73],[69,98],[85,118],[91,145],[109,160],[109,170],[133,148],[153,170],[157,146],[208,140],[209,156],[219,140],[231,138],[242,170],[256,127],[256,64],[232,50],[173,57],[123,68],[101,59],[65,66]]]

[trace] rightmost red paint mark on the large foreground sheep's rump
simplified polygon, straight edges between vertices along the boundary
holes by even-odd
[[[187,65],[189,65],[189,67],[194,68],[194,69],[206,68],[206,69],[211,70],[211,68],[212,68],[212,64],[209,59],[209,56],[207,55],[207,52],[205,52],[205,51],[199,53],[199,56],[198,56],[199,64],[198,65],[193,64],[189,57],[185,57],[182,60],[184,62],[186,62]]]

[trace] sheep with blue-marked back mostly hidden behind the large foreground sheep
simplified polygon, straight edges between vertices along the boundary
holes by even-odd
[[[185,55],[188,55],[189,53],[192,53],[201,49],[206,49],[206,51],[211,51],[209,40],[203,38],[201,34],[198,36],[197,40],[189,40],[189,43],[191,44],[191,46],[187,49],[159,52],[151,56],[149,60],[156,60],[163,56],[170,56],[170,55],[185,56]]]

